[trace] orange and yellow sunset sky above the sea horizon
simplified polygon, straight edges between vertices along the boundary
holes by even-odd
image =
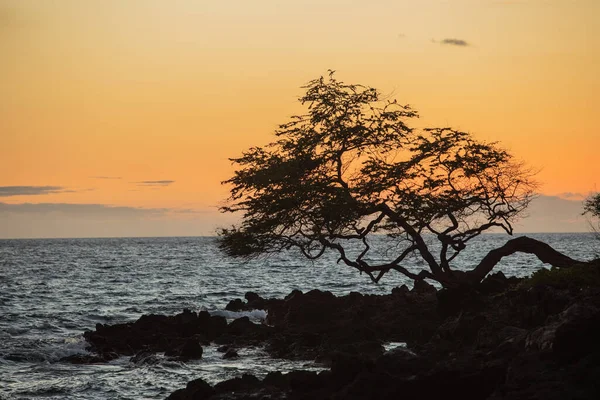
[[[587,231],[598,0],[0,0],[0,238],[211,235],[228,158],[336,70],[536,171],[517,232]]]

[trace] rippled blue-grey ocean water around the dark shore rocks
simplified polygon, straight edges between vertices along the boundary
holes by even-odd
[[[532,234],[575,259],[600,254],[592,234]],[[480,236],[454,265],[469,268],[509,237]],[[385,240],[382,238],[384,256]],[[96,323],[134,321],[142,314],[175,314],[184,308],[225,312],[247,291],[283,297],[293,289],[389,293],[411,283],[390,273],[379,285],[336,265],[335,254],[311,263],[293,252],[252,262],[225,258],[214,238],[122,238],[0,240],[0,399],[164,399],[201,377],[215,383],[244,372],[318,368],[312,363],[272,360],[261,349],[242,349],[237,360],[222,360],[216,346],[204,358],[179,362],[159,358],[137,365],[122,357],[106,364],[72,365],[61,357],[85,353],[82,333]],[[417,258],[407,263],[421,269]],[[534,256],[505,258],[494,271],[527,276],[543,264]],[[548,267],[548,266],[546,266]],[[250,313],[255,319],[264,312]]]

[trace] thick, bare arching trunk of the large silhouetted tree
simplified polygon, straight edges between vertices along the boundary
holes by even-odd
[[[550,264],[553,267],[568,268],[581,263],[581,261],[573,260],[571,257],[554,250],[544,242],[527,236],[521,236],[511,239],[504,246],[490,251],[483,257],[477,267],[467,272],[469,280],[472,282],[481,282],[503,257],[516,252],[535,254],[542,262]]]

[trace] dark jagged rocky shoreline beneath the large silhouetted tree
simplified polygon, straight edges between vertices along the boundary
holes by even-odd
[[[579,267],[578,267],[579,268]],[[600,263],[585,267],[600,274]],[[477,288],[436,290],[420,282],[388,295],[294,291],[284,299],[247,293],[231,311],[262,309],[264,324],[207,312],[144,315],[85,332],[90,356],[75,363],[155,353],[202,357],[202,346],[261,346],[272,357],[316,360],[329,369],[252,375],[214,386],[188,383],[169,399],[597,399],[600,285],[544,284],[496,273]],[[385,351],[387,342],[407,347]]]

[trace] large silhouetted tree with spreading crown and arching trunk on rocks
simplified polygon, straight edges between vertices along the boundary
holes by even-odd
[[[310,81],[299,100],[306,114],[279,126],[277,139],[231,161],[223,182],[231,195],[222,212],[241,212],[238,226],[219,231],[231,256],[297,248],[309,259],[327,250],[378,282],[395,270],[444,286],[478,282],[516,251],[553,265],[574,260],[521,237],[490,252],[472,271],[452,269],[467,243],[489,229],[511,235],[534,198],[532,173],[497,143],[452,128],[415,129],[418,114],[371,87],[345,84],[332,71]],[[397,251],[383,263],[369,260],[372,241],[385,234]],[[428,244],[439,241],[438,249]],[[360,246],[357,254],[348,248]],[[417,254],[428,268],[403,266]]]

